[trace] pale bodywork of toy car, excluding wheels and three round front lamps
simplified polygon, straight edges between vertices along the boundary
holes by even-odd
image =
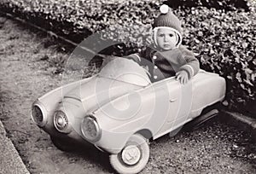
[[[104,68],[96,76],[39,97],[35,103],[45,108],[47,118],[40,127],[51,136],[87,143],[81,122],[90,114],[102,131],[101,138],[90,143],[117,154],[133,134],[144,131],[156,139],[199,116],[205,107],[221,102],[225,96],[225,80],[215,73],[201,70],[188,84],[180,84],[173,77],[150,84],[143,67],[131,60],[117,59]],[[56,110],[66,113],[71,132],[56,131]]]

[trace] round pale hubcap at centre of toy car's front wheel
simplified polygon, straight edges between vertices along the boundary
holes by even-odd
[[[135,165],[140,158],[141,151],[135,145],[127,146],[122,152],[122,159],[127,165]]]

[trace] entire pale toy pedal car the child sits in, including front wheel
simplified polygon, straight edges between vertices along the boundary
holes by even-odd
[[[142,171],[154,140],[224,100],[225,80],[200,71],[188,84],[166,78],[150,83],[143,67],[124,58],[101,72],[49,91],[32,104],[32,119],[58,148],[93,144],[110,155],[119,173]],[[215,114],[215,113],[214,113]]]

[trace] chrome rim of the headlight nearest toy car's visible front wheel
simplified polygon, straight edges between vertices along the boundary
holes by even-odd
[[[84,130],[84,127],[86,127],[85,126],[86,121],[90,121],[95,126],[95,128],[96,128],[96,136],[95,137],[91,138],[91,137],[87,136],[87,132],[85,132],[85,130]],[[84,119],[82,120],[82,123],[81,123],[81,132],[82,132],[82,135],[84,136],[84,138],[89,142],[97,142],[102,137],[102,129],[100,128],[100,125],[98,124],[98,122],[96,121],[96,118],[93,115],[86,115],[84,117]]]

